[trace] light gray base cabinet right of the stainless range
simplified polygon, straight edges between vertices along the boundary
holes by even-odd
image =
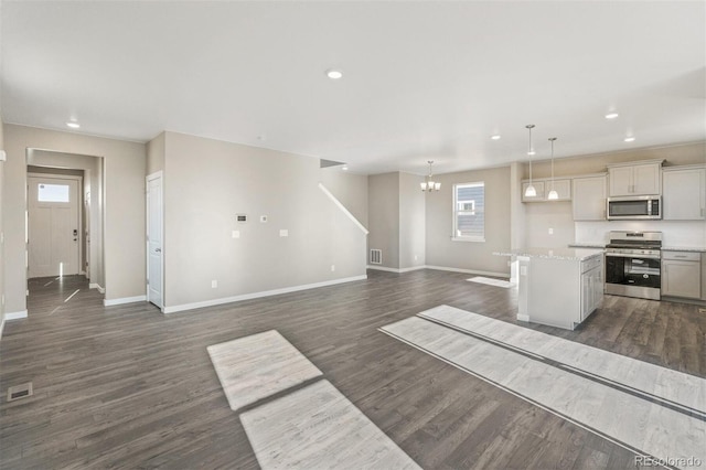
[[[702,254],[662,252],[662,295],[699,299],[702,297]]]

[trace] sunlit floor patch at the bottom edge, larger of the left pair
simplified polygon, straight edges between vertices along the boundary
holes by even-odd
[[[264,469],[418,469],[328,381],[240,415]]]

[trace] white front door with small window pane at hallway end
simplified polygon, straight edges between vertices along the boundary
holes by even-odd
[[[28,277],[78,274],[78,180],[29,177],[28,183]]]

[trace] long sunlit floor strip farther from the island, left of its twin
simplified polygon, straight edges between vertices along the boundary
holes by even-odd
[[[635,452],[706,462],[703,418],[422,318],[381,331]]]

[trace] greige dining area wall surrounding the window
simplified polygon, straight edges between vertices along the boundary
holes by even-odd
[[[441,190],[426,199],[428,266],[510,274],[507,258],[493,255],[511,246],[510,175],[510,167],[435,175]],[[453,184],[478,181],[485,183],[485,242],[454,242]]]

